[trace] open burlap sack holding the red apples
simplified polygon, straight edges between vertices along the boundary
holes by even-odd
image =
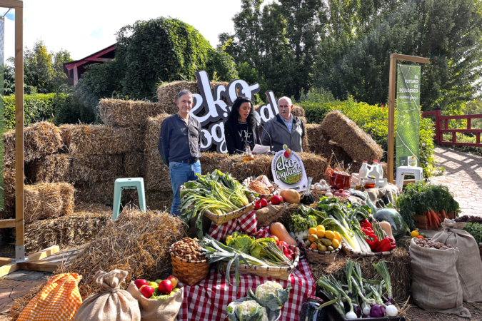
[[[166,300],[146,299],[139,292],[134,282],[131,282],[127,291],[139,302],[141,321],[174,321],[184,299],[183,288]]]

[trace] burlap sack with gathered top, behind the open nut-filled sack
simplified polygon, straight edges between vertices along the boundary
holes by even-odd
[[[482,302],[482,261],[476,240],[466,230],[462,230],[465,226],[465,222],[456,223],[455,220],[446,218],[442,223],[443,230],[433,236],[432,240],[458,248],[456,265],[463,300]]]

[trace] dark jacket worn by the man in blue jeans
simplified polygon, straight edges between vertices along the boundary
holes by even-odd
[[[164,119],[157,144],[164,164],[201,158],[201,123],[189,117],[189,126],[177,113]]]

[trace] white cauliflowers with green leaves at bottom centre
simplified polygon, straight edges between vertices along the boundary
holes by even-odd
[[[246,297],[233,301],[226,309],[229,321],[268,321],[278,320],[281,308],[289,299],[288,285],[286,289],[274,281],[264,282],[256,287],[255,292],[249,289]]]

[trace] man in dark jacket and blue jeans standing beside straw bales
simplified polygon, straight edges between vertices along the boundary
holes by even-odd
[[[189,116],[193,107],[193,94],[183,90],[177,96],[179,111],[164,119],[157,148],[164,164],[169,166],[174,199],[171,215],[181,215],[181,185],[196,180],[201,174],[201,123]]]

